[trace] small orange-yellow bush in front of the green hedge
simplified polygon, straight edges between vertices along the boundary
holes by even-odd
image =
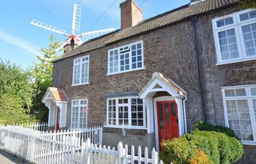
[[[189,159],[189,164],[214,164],[206,155],[205,152],[203,152],[200,149],[195,149],[195,155]]]

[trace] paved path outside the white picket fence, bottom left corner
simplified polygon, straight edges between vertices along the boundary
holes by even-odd
[[[15,157],[3,149],[0,149],[0,163],[1,164],[25,164],[22,159]]]

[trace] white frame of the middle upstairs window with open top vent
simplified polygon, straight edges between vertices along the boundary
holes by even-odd
[[[136,68],[136,69],[132,69],[132,45],[133,44],[141,44],[141,62],[142,62],[142,67],[141,68]],[[119,50],[121,48],[124,48],[124,47],[127,47],[129,46],[129,50],[122,50],[122,52],[120,52]],[[110,73],[110,52],[111,51],[114,51],[114,50],[118,50],[118,71],[117,72],[112,72]],[[110,49],[108,50],[108,73],[107,73],[107,76],[108,75],[112,75],[112,74],[122,74],[122,73],[125,73],[125,72],[129,72],[129,71],[138,71],[138,70],[142,70],[144,69],[144,47],[143,47],[143,40],[141,41],[138,41],[138,42],[132,42],[132,43],[129,43],[129,44],[125,44],[125,45],[122,45],[120,47],[116,47],[116,48],[113,48],[113,49]],[[120,59],[120,56],[121,55],[124,55],[126,53],[129,53],[129,70],[124,70],[124,71],[121,71],[120,70],[120,67],[121,67],[121,59]],[[124,64],[125,66],[125,64]]]

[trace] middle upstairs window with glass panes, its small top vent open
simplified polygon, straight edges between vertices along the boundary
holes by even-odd
[[[108,74],[143,69],[143,42],[135,42],[108,51]]]

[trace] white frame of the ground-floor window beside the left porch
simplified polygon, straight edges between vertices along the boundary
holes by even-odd
[[[79,128],[73,128],[72,127],[72,120],[73,120],[73,107],[74,107],[74,105],[73,105],[73,102],[74,101],[79,101],[79,105],[75,105],[75,107],[78,107],[78,110],[79,110],[79,112],[78,112],[78,127]],[[87,102],[87,104],[86,104],[86,128],[80,128],[80,107],[82,107],[81,106],[81,104],[80,104],[80,101],[86,101]],[[88,128],[88,104],[89,104],[89,101],[88,101],[88,98],[83,98],[83,99],[74,99],[74,100],[72,100],[71,101],[71,114],[70,114],[70,116],[71,116],[71,119],[70,119],[70,128],[69,129],[87,129]]]

